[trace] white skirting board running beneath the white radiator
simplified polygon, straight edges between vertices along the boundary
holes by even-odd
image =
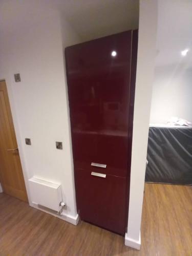
[[[47,214],[53,215],[53,216],[55,216],[55,217],[57,217],[57,218],[59,218],[59,219],[61,219],[63,221],[67,221],[67,222],[69,222],[69,223],[71,223],[73,225],[77,225],[78,222],[79,222],[78,214],[75,217],[71,216],[71,215],[64,214],[64,213],[62,213],[61,215],[58,215],[58,214],[55,214],[54,212],[52,212],[51,210],[49,211],[47,209],[39,207],[38,204],[35,204],[35,203],[31,203],[30,206],[34,207],[34,208],[36,208],[38,210],[44,211]]]

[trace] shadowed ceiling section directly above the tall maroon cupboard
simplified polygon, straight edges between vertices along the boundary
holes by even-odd
[[[139,26],[139,0],[55,0],[82,40]]]

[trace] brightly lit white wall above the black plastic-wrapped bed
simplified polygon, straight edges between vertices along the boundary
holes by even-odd
[[[192,68],[184,65],[155,68],[150,123],[166,123],[172,116],[192,122]]]

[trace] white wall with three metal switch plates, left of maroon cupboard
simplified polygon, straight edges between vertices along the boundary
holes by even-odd
[[[65,214],[75,217],[63,47],[76,44],[78,35],[67,22],[60,23],[56,10],[36,1],[2,1],[0,16],[0,79],[8,87],[27,188],[33,175],[61,183]],[[21,82],[14,82],[15,73]],[[31,146],[25,138],[31,138]],[[62,151],[55,141],[63,142]],[[28,196],[31,203],[29,191]]]

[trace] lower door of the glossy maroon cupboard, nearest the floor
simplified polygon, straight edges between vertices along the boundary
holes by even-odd
[[[81,219],[124,235],[128,202],[126,179],[78,169],[75,182]]]

